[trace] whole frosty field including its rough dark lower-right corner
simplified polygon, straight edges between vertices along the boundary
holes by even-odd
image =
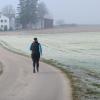
[[[56,60],[64,67],[69,66],[80,78],[80,88],[86,87],[81,90],[81,100],[100,100],[100,33],[0,36],[0,41],[30,54],[34,37],[38,37],[42,44],[43,58]]]

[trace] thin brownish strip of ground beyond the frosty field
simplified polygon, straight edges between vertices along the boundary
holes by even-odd
[[[77,33],[77,32],[100,32],[100,26],[76,26],[76,27],[58,27],[42,30],[19,30],[0,32],[0,35],[31,35],[31,34],[54,34],[54,33]]]

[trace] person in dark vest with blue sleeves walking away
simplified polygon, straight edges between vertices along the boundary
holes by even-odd
[[[30,46],[30,50],[32,51],[31,58],[33,61],[33,73],[36,73],[35,69],[39,72],[39,60],[42,55],[42,47],[37,38],[34,38],[34,41]]]

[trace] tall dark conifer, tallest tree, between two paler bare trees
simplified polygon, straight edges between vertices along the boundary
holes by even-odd
[[[37,6],[38,0],[19,0],[18,14],[23,28],[37,22]]]

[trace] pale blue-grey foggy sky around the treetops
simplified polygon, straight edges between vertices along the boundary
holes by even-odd
[[[100,24],[100,0],[40,0],[44,1],[51,16],[66,23]],[[0,9],[12,4],[17,7],[18,0],[0,0]]]

